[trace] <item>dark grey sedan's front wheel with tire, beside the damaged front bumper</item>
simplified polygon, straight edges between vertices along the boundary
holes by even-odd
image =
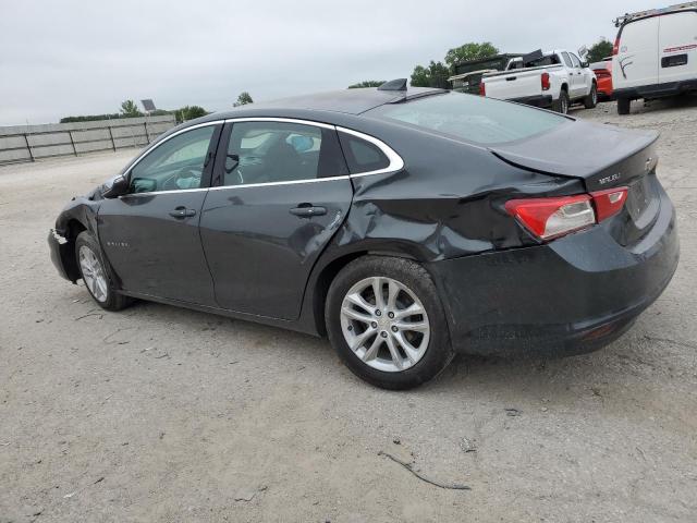
[[[75,259],[85,288],[97,305],[107,311],[121,311],[133,303],[132,299],[118,293],[99,243],[87,231],[81,232],[75,240]]]

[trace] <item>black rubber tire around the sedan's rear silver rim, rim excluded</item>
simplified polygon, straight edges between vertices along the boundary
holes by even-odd
[[[428,316],[430,331],[426,350],[420,360],[403,370],[384,372],[364,363],[351,350],[342,330],[341,309],[346,293],[355,284],[375,277],[390,278],[408,288],[421,302]],[[329,288],[325,321],[331,344],[351,372],[365,381],[383,389],[404,390],[418,387],[438,376],[454,357],[438,290],[428,271],[419,264],[408,259],[365,256],[346,265]],[[383,328],[387,330],[387,327]],[[379,329],[380,327],[378,327]],[[381,333],[387,335],[387,332]],[[377,337],[376,335],[372,339],[377,339]]]

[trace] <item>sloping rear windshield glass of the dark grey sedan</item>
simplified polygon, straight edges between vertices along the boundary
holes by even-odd
[[[571,122],[552,112],[463,93],[386,104],[365,114],[481,145],[528,138]]]

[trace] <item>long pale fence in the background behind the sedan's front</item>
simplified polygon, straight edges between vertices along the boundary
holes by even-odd
[[[163,115],[0,127],[0,165],[143,147],[174,125]]]

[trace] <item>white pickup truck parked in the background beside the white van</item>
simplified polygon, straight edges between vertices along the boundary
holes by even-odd
[[[479,94],[566,113],[574,102],[596,107],[596,74],[570,51],[535,51],[509,61],[505,71],[486,73]]]

